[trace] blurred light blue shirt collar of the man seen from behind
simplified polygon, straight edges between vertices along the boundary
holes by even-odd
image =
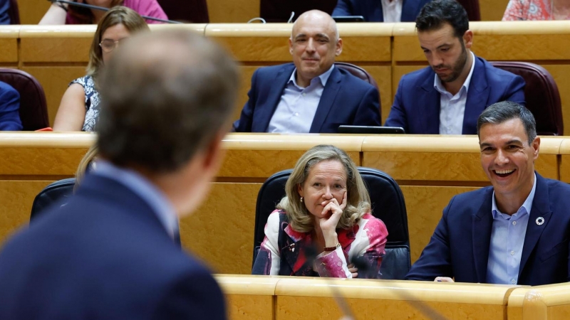
[[[95,168],[89,174],[103,176],[123,184],[123,186],[146,201],[172,239],[178,236],[178,218],[174,207],[172,207],[165,194],[148,181],[147,178],[134,170],[119,168],[109,161],[101,159],[95,161]]]

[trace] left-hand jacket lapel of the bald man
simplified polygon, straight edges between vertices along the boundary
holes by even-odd
[[[291,73],[293,73],[295,66],[291,64],[284,65],[281,70],[279,70],[275,78],[269,83],[268,87],[278,88],[279,90],[267,90],[267,99],[265,105],[268,107],[266,108],[258,108],[259,115],[254,122],[257,122],[259,127],[261,128],[260,132],[267,132],[267,128],[269,128],[269,122],[271,121],[271,117],[275,113],[277,109],[277,105],[279,105],[279,101],[281,100],[281,95],[283,95],[283,90],[285,90],[285,86],[291,78]]]

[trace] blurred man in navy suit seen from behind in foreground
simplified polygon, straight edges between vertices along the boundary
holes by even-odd
[[[105,68],[96,169],[4,246],[0,319],[226,319],[175,239],[221,162],[237,65],[171,29],[121,43]]]

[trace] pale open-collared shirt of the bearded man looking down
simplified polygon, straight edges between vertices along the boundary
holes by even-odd
[[[433,87],[440,92],[440,134],[462,134],[463,118],[465,116],[465,103],[467,102],[467,91],[471,83],[471,76],[475,69],[475,55],[471,53],[471,70],[467,79],[463,82],[461,89],[455,95],[445,90],[441,80],[435,75]]]

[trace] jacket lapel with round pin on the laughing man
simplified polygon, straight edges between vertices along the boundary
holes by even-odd
[[[537,242],[542,235],[544,229],[550,221],[552,214],[550,210],[549,190],[546,180],[537,174],[537,188],[534,191],[534,200],[532,201],[532,209],[529,214],[529,224],[527,225],[527,233],[524,235],[524,245],[522,246],[521,264],[519,267],[519,279],[524,266],[536,247]],[[537,224],[537,218],[544,218],[542,225]]]

